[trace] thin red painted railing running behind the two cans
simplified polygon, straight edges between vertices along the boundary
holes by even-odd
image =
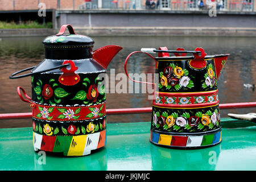
[[[230,103],[230,104],[220,104],[220,109],[238,109],[256,107],[256,102],[241,102],[241,103]],[[151,113],[152,107],[138,107],[138,108],[122,108],[122,109],[106,109],[107,115],[114,114],[143,114]],[[32,113],[9,113],[0,114],[0,119],[24,119],[31,118]]]

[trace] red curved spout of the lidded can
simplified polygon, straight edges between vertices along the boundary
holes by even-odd
[[[92,53],[92,58],[105,69],[108,67],[113,57],[122,49],[121,46],[110,45],[96,49]]]

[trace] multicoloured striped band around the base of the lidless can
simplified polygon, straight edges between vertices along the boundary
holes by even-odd
[[[221,131],[205,135],[164,135],[151,131],[150,142],[170,147],[203,147],[221,142]]]

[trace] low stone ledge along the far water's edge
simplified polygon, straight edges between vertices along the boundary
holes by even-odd
[[[243,27],[74,27],[76,34],[88,36],[256,36],[256,28]],[[49,36],[53,28],[0,29],[0,37]]]

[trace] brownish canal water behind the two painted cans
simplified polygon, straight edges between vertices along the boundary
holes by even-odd
[[[37,65],[44,59],[42,40],[44,37],[0,38],[0,113],[28,113],[29,104],[20,100],[17,86],[22,86],[31,96],[30,77],[10,80],[11,73]],[[218,80],[218,98],[221,104],[232,102],[255,102],[256,91],[243,84],[256,84],[256,38],[250,37],[192,37],[192,36],[108,36],[95,37],[94,49],[109,44],[117,44],[123,49],[114,57],[108,67],[108,74],[124,73],[123,64],[130,52],[142,47],[183,47],[194,50],[203,47],[208,55],[230,53],[228,62]],[[134,55],[128,65],[129,72],[154,73],[155,63],[144,55]],[[110,76],[110,75],[109,75]],[[112,75],[113,77],[113,75]],[[119,81],[115,81],[116,83]],[[141,87],[140,87],[141,88]],[[106,108],[151,107],[148,93],[108,93]],[[245,114],[255,112],[250,109],[221,110],[221,117],[228,113]],[[146,122],[151,114],[109,115],[108,123]],[[0,120],[0,128],[31,127],[31,119]]]

